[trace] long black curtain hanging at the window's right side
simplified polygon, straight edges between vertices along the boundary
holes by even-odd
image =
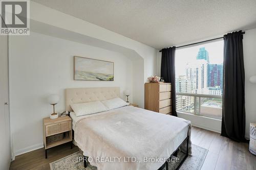
[[[221,135],[246,141],[242,31],[224,35],[224,89]]]

